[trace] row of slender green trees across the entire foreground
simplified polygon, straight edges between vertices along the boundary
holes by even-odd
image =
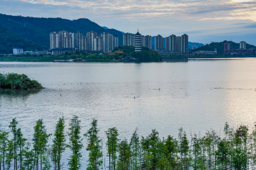
[[[93,119],[87,132],[81,134],[81,121],[73,115],[66,132],[62,116],[54,133],[49,134],[39,119],[29,142],[14,118],[9,131],[0,130],[0,170],[62,170],[62,156],[67,148],[71,151],[68,169],[79,170],[84,145],[89,153],[87,170],[256,169],[256,125],[249,133],[245,125],[234,129],[226,123],[222,137],[212,129],[204,135],[188,135],[181,127],[177,139],[170,135],[160,138],[156,129],[148,136],[140,136],[136,128],[129,140],[119,139],[118,130],[113,127],[105,131],[107,142],[104,143],[97,122]],[[51,145],[48,144],[50,136],[53,136]],[[103,145],[106,155],[103,155]]]

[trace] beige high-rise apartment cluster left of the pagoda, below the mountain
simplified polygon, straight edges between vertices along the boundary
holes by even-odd
[[[83,36],[79,31],[77,33],[69,33],[68,31],[50,33],[50,48],[59,48],[58,51],[61,53],[66,48],[109,53],[115,47],[118,47],[118,36],[106,32],[98,34],[90,31],[87,32],[86,36]],[[56,53],[58,52],[56,51]]]

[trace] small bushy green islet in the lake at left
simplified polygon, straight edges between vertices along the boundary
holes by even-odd
[[[44,88],[26,74],[0,73],[0,90],[32,90]]]

